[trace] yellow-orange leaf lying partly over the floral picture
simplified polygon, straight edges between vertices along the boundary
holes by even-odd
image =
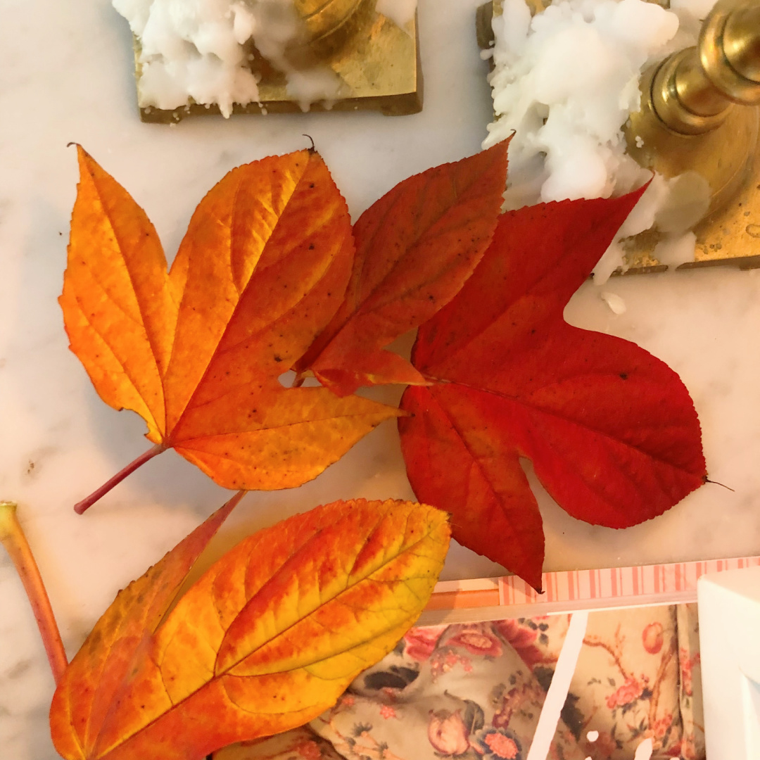
[[[55,748],[66,760],[201,760],[305,724],[413,625],[449,535],[426,505],[334,502],[243,540],[160,620],[176,576],[161,604],[156,578],[183,542],[116,597],[72,660],[50,711]]]

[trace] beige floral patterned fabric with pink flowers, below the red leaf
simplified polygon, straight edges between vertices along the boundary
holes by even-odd
[[[524,760],[568,624],[411,629],[309,727],[234,760]],[[632,760],[650,738],[653,760],[705,758],[695,605],[591,613],[549,757]]]

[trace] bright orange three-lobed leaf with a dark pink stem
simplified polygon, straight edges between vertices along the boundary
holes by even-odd
[[[71,350],[116,409],[221,486],[299,486],[397,410],[283,388],[340,305],[353,239],[318,154],[239,166],[198,205],[167,274],[144,211],[81,148],[60,298]]]

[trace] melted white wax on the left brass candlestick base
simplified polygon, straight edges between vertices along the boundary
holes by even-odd
[[[287,93],[308,110],[342,97],[340,78],[326,66],[296,68],[287,49],[306,27],[293,0],[113,0],[141,43],[141,107],[181,108],[192,99],[230,116],[234,103],[259,100],[247,65],[249,43],[283,71]],[[416,0],[378,0],[378,12],[404,27]]]

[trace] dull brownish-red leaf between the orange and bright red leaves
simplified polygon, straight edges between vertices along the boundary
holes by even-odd
[[[344,396],[361,385],[426,385],[388,350],[451,301],[496,228],[508,141],[404,179],[353,226],[356,256],[340,306],[296,369]]]

